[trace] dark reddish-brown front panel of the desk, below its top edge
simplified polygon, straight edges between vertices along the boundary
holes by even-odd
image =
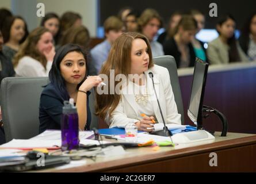
[[[217,167],[209,166],[209,153],[138,164],[107,172],[256,172],[256,145],[215,151]]]

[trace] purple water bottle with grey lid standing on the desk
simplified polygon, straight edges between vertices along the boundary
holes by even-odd
[[[78,114],[72,98],[70,101],[64,101],[61,129],[62,151],[77,149],[79,147]]]

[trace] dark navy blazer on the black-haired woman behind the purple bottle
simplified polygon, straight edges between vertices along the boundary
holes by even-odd
[[[87,91],[87,123],[86,130],[90,129],[91,112],[89,108],[89,95]],[[41,93],[39,106],[39,133],[47,129],[60,129],[60,118],[62,117],[63,99],[56,91],[54,85],[49,83]]]

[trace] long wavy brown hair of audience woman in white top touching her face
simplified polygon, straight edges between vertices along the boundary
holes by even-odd
[[[38,60],[44,66],[44,68],[46,70],[47,59],[43,55],[43,53],[39,52],[39,50],[36,47],[38,41],[41,39],[41,36],[45,32],[49,32],[49,30],[44,27],[39,27],[39,28],[32,30],[32,32],[29,33],[29,35],[26,38],[26,40],[24,41],[24,43],[21,44],[21,48],[14,56],[14,59],[13,59],[14,67],[16,67],[18,65],[18,62],[22,57],[30,56],[33,59]]]

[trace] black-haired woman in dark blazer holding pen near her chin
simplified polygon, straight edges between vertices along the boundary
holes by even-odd
[[[99,76],[86,77],[86,62],[86,53],[77,44],[64,45],[56,52],[49,71],[50,83],[40,98],[40,133],[46,129],[60,129],[63,101],[70,98],[77,106],[79,129],[90,128],[89,90],[102,80]]]

